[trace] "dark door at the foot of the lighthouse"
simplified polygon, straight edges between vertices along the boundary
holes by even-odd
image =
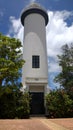
[[[31,114],[44,114],[44,93],[43,92],[31,92]]]

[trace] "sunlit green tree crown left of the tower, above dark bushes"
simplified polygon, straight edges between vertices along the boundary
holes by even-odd
[[[0,86],[16,86],[24,64],[21,42],[0,34]]]

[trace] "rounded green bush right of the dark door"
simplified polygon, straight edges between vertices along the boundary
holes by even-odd
[[[48,117],[73,117],[73,100],[64,90],[55,90],[47,94],[46,107]]]

